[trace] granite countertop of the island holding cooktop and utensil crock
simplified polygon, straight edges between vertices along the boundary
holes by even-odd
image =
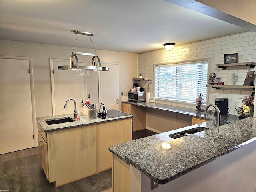
[[[109,110],[110,111],[110,110]],[[112,117],[112,118],[88,118],[88,116],[84,116],[82,113],[80,114],[80,121],[77,119],[74,119],[74,113],[72,114],[64,114],[64,115],[54,115],[54,116],[46,116],[46,117],[38,117],[36,120],[38,123],[42,126],[45,132],[50,132],[50,131],[56,131],[56,130],[62,130],[62,129],[68,129],[68,128],[74,128],[74,127],[80,127],[80,126],[87,126],[87,125],[92,125],[92,124],[99,124],[99,123],[104,123],[104,122],[110,122],[110,121],[116,121],[116,120],[121,120],[121,119],[127,119],[127,118],[133,118],[131,114],[120,112],[117,110],[112,110],[116,111],[116,116],[117,117]],[[122,114],[123,116],[118,116],[118,114]],[[126,115],[127,114],[127,115]],[[59,124],[53,124],[53,125],[48,125],[46,123],[47,120],[57,120],[57,119],[63,119],[66,117],[72,118],[73,122],[66,122],[66,123],[59,123]]]

